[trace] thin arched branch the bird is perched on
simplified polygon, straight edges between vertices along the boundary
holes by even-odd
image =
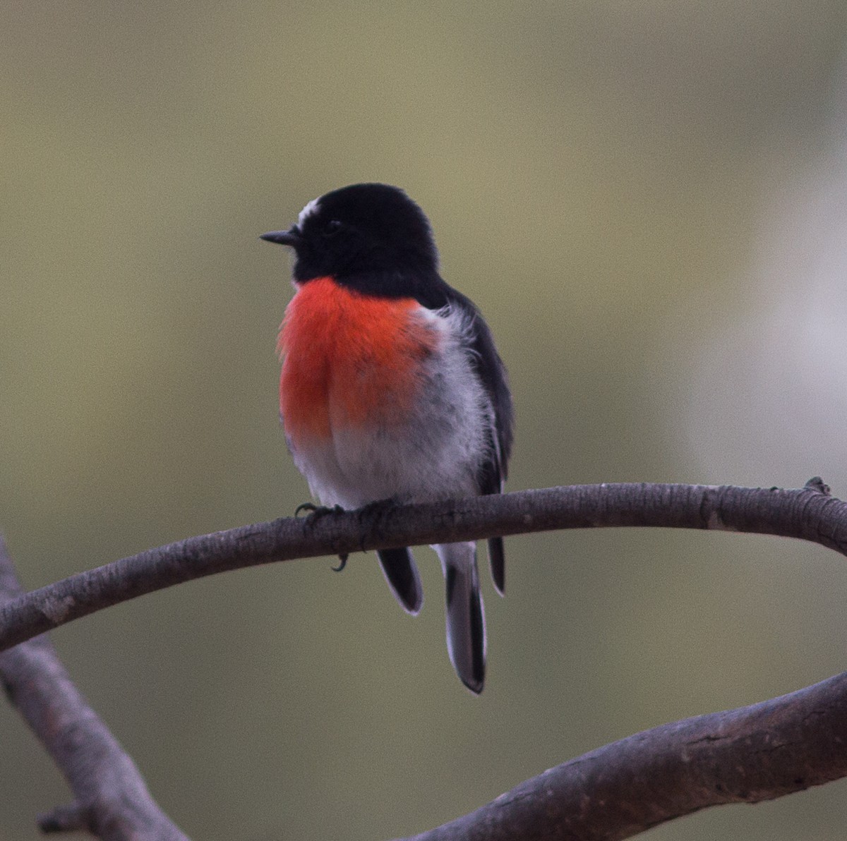
[[[817,478],[799,490],[586,484],[433,505],[377,503],[180,540],[33,590],[0,608],[0,650],[104,607],[226,570],[496,534],[609,526],[779,534],[847,554],[847,505],[829,496]]]

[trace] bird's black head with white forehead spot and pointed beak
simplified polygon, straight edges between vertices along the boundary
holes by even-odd
[[[398,283],[437,274],[438,252],[424,211],[386,184],[353,184],[303,207],[297,223],[263,240],[291,246],[294,279],[334,277],[394,294]]]

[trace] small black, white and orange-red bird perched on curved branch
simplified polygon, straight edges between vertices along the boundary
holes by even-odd
[[[514,426],[506,368],[479,309],[441,278],[418,204],[396,186],[348,185],[261,239],[294,252],[295,294],[277,345],[280,420],[322,506],[501,493]],[[432,548],[446,581],[448,654],[479,694],[486,641],[476,543]],[[410,549],[377,556],[391,592],[417,614],[424,592]],[[503,595],[501,537],[488,540],[488,556]]]

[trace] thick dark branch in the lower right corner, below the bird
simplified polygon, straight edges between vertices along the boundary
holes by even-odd
[[[847,672],[606,744],[406,841],[617,841],[706,806],[847,776],[845,744]]]

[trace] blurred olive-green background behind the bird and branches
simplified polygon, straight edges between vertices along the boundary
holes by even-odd
[[[847,495],[847,6],[24,3],[0,30],[0,524],[29,588],[293,512],[284,252],[407,189],[511,372],[509,486]],[[435,556],[230,573],[53,634],[193,838],[390,838],[680,717],[847,667],[844,558],[765,537],[509,539],[484,694]],[[487,578],[487,576],[486,576]],[[69,799],[0,706],[0,838]],[[843,838],[847,784],[656,839]]]

